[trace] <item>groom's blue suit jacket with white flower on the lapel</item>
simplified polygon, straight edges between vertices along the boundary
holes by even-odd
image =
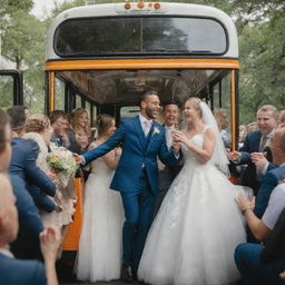
[[[147,138],[140,126],[139,116],[136,116],[124,119],[115,135],[99,147],[86,153],[83,155],[86,164],[107,154],[119,144],[122,144],[122,154],[110,185],[115,190],[136,191],[144,166],[151,190],[156,194],[158,191],[157,156],[164,164],[175,165],[179,160],[167,149],[165,128],[154,121]]]

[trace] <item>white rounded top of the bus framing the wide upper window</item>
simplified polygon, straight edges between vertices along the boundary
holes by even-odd
[[[238,41],[235,24],[232,18],[219,9],[189,3],[161,2],[159,8],[149,7],[150,2],[146,2],[144,8],[138,7],[139,2],[130,3],[131,8],[126,9],[125,3],[107,3],[77,7],[61,12],[52,21],[47,40],[46,60],[58,60],[61,57],[55,51],[55,33],[57,28],[65,21],[82,18],[102,18],[102,17],[193,17],[213,19],[219,22],[227,36],[227,49],[223,55],[210,56],[212,58],[238,58]],[[104,31],[102,31],[104,32]],[[188,55],[188,57],[193,57]],[[204,58],[207,57],[203,56]]]

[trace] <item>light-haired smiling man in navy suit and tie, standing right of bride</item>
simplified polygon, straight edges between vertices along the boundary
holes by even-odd
[[[277,109],[272,105],[265,105],[257,111],[257,125],[259,130],[250,131],[245,138],[244,146],[239,151],[228,154],[228,159],[238,165],[247,164],[242,177],[242,184],[253,188],[256,195],[261,186],[261,177],[255,164],[252,161],[252,154],[263,153],[269,139],[273,137],[277,125]]]

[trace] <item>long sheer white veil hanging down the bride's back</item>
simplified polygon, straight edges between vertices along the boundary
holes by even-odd
[[[205,125],[210,126],[216,135],[216,147],[213,154],[213,157],[210,161],[226,176],[229,176],[228,170],[228,159],[227,159],[227,153],[223,142],[223,139],[220,137],[220,132],[217,126],[217,121],[215,117],[213,116],[212,110],[209,109],[208,105],[204,101],[200,101],[200,109],[202,109],[202,120]]]

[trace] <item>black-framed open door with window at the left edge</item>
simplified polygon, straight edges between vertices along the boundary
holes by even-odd
[[[23,105],[22,75],[17,70],[0,69],[0,108]]]

